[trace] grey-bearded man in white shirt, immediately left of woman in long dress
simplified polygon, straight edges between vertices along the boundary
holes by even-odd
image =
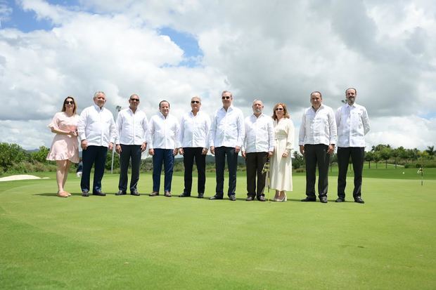
[[[264,110],[262,100],[254,100],[252,110],[253,114],[245,118],[245,138],[242,150],[247,167],[247,199],[245,200],[250,202],[256,197],[259,202],[264,202],[267,173],[262,172],[262,169],[274,152],[276,142],[274,125],[271,117],[262,113]]]

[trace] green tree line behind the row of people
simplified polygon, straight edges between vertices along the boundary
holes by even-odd
[[[38,171],[56,171],[56,163],[46,160],[49,148],[45,146],[39,147],[38,150],[27,151],[23,147],[15,143],[0,143],[0,175],[4,173],[30,173]],[[417,148],[406,149],[403,146],[393,148],[390,145],[379,144],[373,146],[371,150],[365,152],[365,161],[368,162],[368,167],[371,166],[376,169],[380,162],[383,162],[385,168],[387,164],[394,164],[404,167],[424,166],[436,167],[436,150],[435,146],[428,146],[425,150],[418,150]],[[241,157],[242,158],[242,157]],[[214,170],[213,157],[209,158],[207,162],[207,171]],[[333,154],[331,162],[335,164],[338,161],[336,154]],[[238,170],[244,170],[243,161],[238,165]],[[105,167],[110,170],[112,165],[112,154],[108,152]],[[120,158],[115,154],[114,165],[115,171],[120,168]],[[153,169],[151,159],[142,161],[141,171],[150,171]],[[293,169],[303,171],[304,158],[300,153],[295,151],[293,153]],[[72,168],[71,171],[75,169]],[[176,159],[174,171],[183,171],[184,166],[181,159]]]

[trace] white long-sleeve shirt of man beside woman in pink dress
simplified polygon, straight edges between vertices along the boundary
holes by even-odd
[[[115,143],[117,138],[112,112],[98,105],[86,107],[82,111],[77,123],[77,132],[80,140],[88,141],[88,146],[108,147],[109,143]]]

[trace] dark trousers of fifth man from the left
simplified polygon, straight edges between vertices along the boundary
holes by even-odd
[[[215,169],[217,171],[217,187],[216,195],[222,197],[224,195],[224,166],[229,167],[229,190],[227,195],[234,195],[236,191],[236,169],[238,166],[238,153],[235,152],[235,147],[215,147]]]

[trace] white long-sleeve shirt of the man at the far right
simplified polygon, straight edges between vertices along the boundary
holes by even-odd
[[[335,114],[338,126],[338,147],[365,147],[365,135],[370,129],[366,108],[354,103],[339,107]]]

